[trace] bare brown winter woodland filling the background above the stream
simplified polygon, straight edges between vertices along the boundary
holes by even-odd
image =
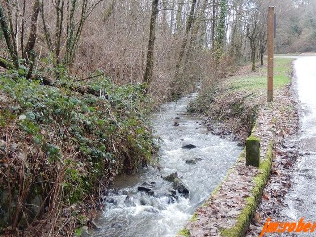
[[[170,98],[246,61],[263,65],[270,5],[277,52],[316,50],[315,0],[0,0],[0,66],[52,80],[49,67],[100,70]]]

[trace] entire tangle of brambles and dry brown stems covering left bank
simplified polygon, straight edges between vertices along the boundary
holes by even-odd
[[[100,187],[122,172],[137,172],[155,152],[143,85],[64,79],[53,87],[28,81],[23,71],[0,76],[3,226],[37,223],[41,230],[47,225],[37,220],[45,219],[52,224],[45,231],[65,231],[53,223],[61,217],[76,221],[85,209],[80,203],[91,208]],[[74,89],[84,86],[99,96]],[[78,205],[79,211],[70,211]],[[75,227],[71,221],[67,226]]]

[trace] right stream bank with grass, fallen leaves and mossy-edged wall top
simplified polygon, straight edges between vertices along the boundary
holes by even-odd
[[[248,132],[246,128],[252,126],[250,126],[251,123],[247,123],[248,126],[242,125],[242,121],[245,121],[242,119],[245,115],[242,112],[248,111],[245,108],[255,108],[256,116],[253,118],[255,123],[251,135],[261,139],[261,165],[259,168],[246,166],[243,152],[240,159],[228,171],[223,183],[197,209],[191,221],[178,233],[178,236],[245,236],[250,222],[254,223],[256,219],[259,219],[260,214],[256,212],[256,208],[270,175],[276,146],[282,144],[285,136],[293,135],[296,131],[294,125],[298,124],[295,102],[289,92],[291,62],[292,59],[275,60],[274,102],[265,102],[266,71],[264,68],[257,68],[256,73],[243,73],[228,78],[219,85],[217,91],[221,93],[218,93],[218,97],[216,97],[215,88],[215,93],[211,96],[212,104],[207,109],[216,107],[218,109],[204,111],[204,114],[210,115],[206,122],[214,121],[215,118],[218,123],[215,123],[213,127],[217,131],[223,127],[228,132],[237,129],[237,132],[234,131],[236,136],[245,139],[249,135],[246,135]],[[235,95],[240,96],[235,97]],[[244,102],[240,103],[240,98],[245,98]],[[202,99],[205,100],[205,97]],[[223,107],[223,104],[231,106]],[[220,111],[220,108],[224,109]],[[241,112],[236,113],[236,108],[242,108]],[[217,117],[216,111],[220,111],[221,116]],[[232,118],[228,116],[229,119],[221,120],[225,118],[222,115],[229,114],[235,116]],[[284,122],[287,121],[285,119],[288,119],[288,122]],[[238,133],[238,127],[241,128],[242,133]]]

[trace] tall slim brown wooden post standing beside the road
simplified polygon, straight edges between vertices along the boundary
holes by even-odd
[[[273,101],[274,7],[268,10],[268,102]]]

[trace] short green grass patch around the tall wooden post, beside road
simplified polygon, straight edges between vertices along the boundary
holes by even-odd
[[[275,58],[274,59],[274,88],[280,89],[291,81],[292,58]],[[267,87],[267,68],[257,68],[254,73],[237,76],[234,80],[229,81],[229,89],[232,90],[261,90]]]

